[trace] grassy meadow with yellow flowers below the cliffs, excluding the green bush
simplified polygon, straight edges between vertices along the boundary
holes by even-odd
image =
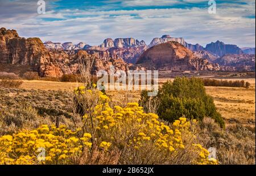
[[[174,79],[160,78],[160,87],[167,80]],[[209,117],[158,119],[138,106],[141,91],[103,95],[81,83],[46,80],[0,86],[0,164],[255,164],[255,79],[228,80],[250,88],[205,87],[225,128]],[[30,145],[46,147],[46,161],[31,156]],[[217,161],[208,159],[210,147]]]

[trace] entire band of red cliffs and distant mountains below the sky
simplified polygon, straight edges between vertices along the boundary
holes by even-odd
[[[217,41],[205,48],[192,45],[183,38],[164,35],[154,38],[150,45],[134,38],[107,38],[101,45],[90,46],[84,42],[42,42],[40,38],[19,37],[15,30],[0,29],[0,63],[7,72],[24,74],[36,71],[40,76],[59,77],[75,74],[82,60],[93,57],[93,70],[115,71],[159,69],[172,71],[249,71],[255,70],[255,54],[250,48],[240,49]],[[14,70],[14,67],[17,68]],[[1,68],[1,69],[2,69]],[[10,69],[9,69],[10,68]],[[20,70],[22,68],[23,70]]]

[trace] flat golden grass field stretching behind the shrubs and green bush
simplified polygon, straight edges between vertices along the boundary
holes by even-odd
[[[164,82],[167,79],[159,81]],[[239,80],[239,79],[229,79]],[[218,111],[224,117],[227,125],[242,123],[242,125],[255,126],[255,79],[243,79],[249,81],[251,87],[206,87],[207,93],[214,97],[214,103]],[[23,89],[61,90],[72,91],[78,83],[62,83],[42,80],[23,80]],[[108,91],[111,97],[122,96],[125,91]],[[134,100],[139,100],[139,91],[133,91]],[[113,98],[114,100],[115,98]]]

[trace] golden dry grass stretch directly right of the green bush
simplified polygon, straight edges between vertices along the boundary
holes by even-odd
[[[207,93],[214,97],[214,103],[225,118],[226,125],[255,126],[255,80],[250,80],[252,87],[228,88],[206,87]]]

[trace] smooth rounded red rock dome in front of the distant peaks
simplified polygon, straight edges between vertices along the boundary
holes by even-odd
[[[196,57],[191,50],[175,41],[155,45],[146,50],[138,59],[137,64],[147,69],[172,71],[220,69],[217,64],[212,64],[207,59]]]

